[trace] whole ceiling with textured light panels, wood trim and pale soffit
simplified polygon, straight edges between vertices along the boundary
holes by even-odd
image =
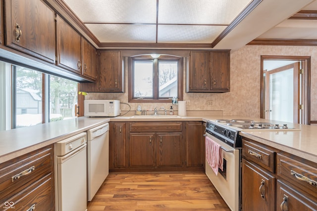
[[[317,0],[47,0],[98,48],[238,49],[255,39],[317,39]],[[317,13],[316,13],[317,14]]]

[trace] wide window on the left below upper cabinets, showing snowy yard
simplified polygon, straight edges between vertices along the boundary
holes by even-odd
[[[0,82],[0,130],[76,117],[76,82],[1,61]]]

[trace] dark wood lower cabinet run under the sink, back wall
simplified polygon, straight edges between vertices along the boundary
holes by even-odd
[[[204,170],[201,121],[110,122],[109,126],[111,172]]]

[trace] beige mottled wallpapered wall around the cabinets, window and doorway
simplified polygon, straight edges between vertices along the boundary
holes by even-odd
[[[231,52],[230,92],[227,93],[186,93],[184,73],[184,100],[187,110],[222,110],[224,115],[260,117],[260,70],[261,55],[311,56],[311,120],[317,120],[317,48],[314,46],[257,46],[246,45]],[[126,71],[127,78],[127,71]],[[88,93],[85,99],[119,99],[128,102],[126,93]],[[207,101],[211,101],[207,105]],[[129,103],[136,110],[138,103]],[[170,103],[143,103],[142,108],[156,106],[169,108]],[[173,106],[177,110],[177,106]],[[121,110],[128,107],[121,105]]]

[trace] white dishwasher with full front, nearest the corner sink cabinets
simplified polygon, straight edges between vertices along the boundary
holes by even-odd
[[[87,131],[88,201],[91,201],[109,174],[109,124]]]

